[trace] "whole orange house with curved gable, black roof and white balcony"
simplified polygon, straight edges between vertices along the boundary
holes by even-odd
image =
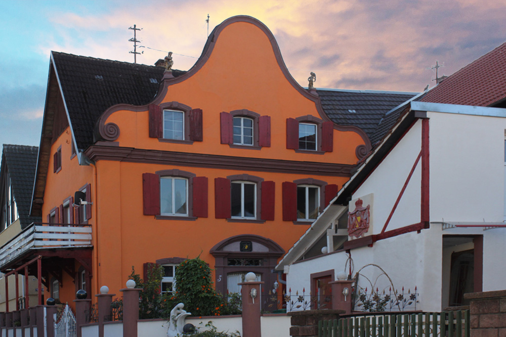
[[[33,232],[47,236],[2,268],[37,263],[46,292],[69,303],[79,288],[119,294],[147,262],[165,267],[171,292],[174,267],[196,256],[222,293],[249,271],[272,289],[271,270],[369,137],[327,116],[322,91],[291,77],[254,18],[218,25],[187,72],[171,63],[52,52],[31,201],[45,221]]]

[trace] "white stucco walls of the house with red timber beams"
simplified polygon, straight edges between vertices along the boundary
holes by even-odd
[[[433,104],[432,107],[435,111],[427,111],[430,228],[422,229],[420,233],[411,231],[378,239],[372,247],[350,250],[353,275],[366,265],[375,265],[360,271],[370,280],[359,277],[360,287],[369,286],[370,289],[369,284],[374,283],[373,286],[381,292],[391,285],[398,290],[404,287],[411,291],[416,286],[419,294],[416,309],[423,311],[440,311],[451,305],[448,295],[450,267],[452,256],[456,259],[459,252],[482,255],[483,291],[503,289],[506,284],[506,268],[502,259],[506,254],[506,228],[469,226],[476,223],[497,225],[504,220],[506,112],[497,108],[441,104]],[[370,208],[373,225],[366,235],[382,232],[421,147],[422,120],[417,119],[353,192],[352,200],[373,195],[374,202]],[[420,223],[421,167],[420,160],[385,231]],[[365,203],[363,206],[366,206]],[[350,203],[349,211],[352,208],[354,205]],[[468,226],[455,227],[461,224]],[[478,240],[477,243],[474,240]],[[482,253],[479,240],[483,243]],[[348,273],[348,267],[345,270],[347,259],[345,251],[338,251],[294,262],[286,268],[287,288],[291,288],[292,292],[311,288],[311,274],[326,270],[334,270],[335,275],[341,271]],[[462,264],[464,270],[466,265]],[[378,267],[392,282],[382,275],[383,271]],[[463,291],[468,292],[469,286]]]

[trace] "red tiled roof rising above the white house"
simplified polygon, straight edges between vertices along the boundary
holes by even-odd
[[[487,107],[506,99],[506,43],[444,79],[423,102]]]

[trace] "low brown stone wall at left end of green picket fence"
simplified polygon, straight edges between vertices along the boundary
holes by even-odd
[[[307,310],[307,311],[290,311],[287,313],[291,316],[291,336],[318,337],[318,322],[321,320],[339,319],[344,314],[344,310]]]

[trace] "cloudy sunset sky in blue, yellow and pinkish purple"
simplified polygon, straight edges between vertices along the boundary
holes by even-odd
[[[506,41],[506,0],[2,0],[0,143],[38,146],[50,52],[174,69],[196,62],[208,30],[234,15],[262,21],[307,86],[419,92]],[[1,149],[0,149],[1,151]]]

